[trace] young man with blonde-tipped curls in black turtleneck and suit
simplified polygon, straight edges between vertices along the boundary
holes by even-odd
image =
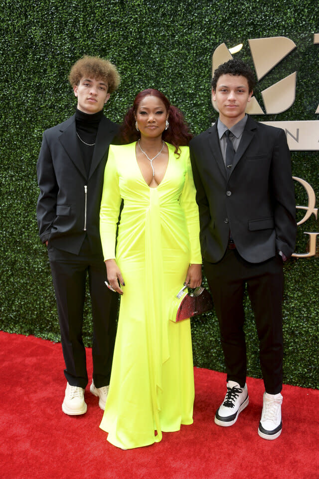
[[[108,60],[84,56],[71,68],[75,114],[43,134],[37,163],[37,221],[47,245],[55,289],[67,380],[62,411],[84,414],[88,383],[82,341],[86,276],[93,317],[93,380],[90,391],[105,408],[115,341],[118,296],[104,284],[106,267],[99,233],[103,175],[118,125],[103,115],[120,83]]]

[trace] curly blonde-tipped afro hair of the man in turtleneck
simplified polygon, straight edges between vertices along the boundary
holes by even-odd
[[[71,86],[78,85],[83,76],[105,81],[108,85],[108,93],[115,91],[121,81],[116,66],[99,56],[84,55],[74,63],[69,73]]]

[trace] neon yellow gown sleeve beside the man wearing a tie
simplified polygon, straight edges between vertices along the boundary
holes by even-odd
[[[189,154],[187,155],[186,159],[185,183],[183,191],[179,198],[179,204],[184,210],[187,223],[187,230],[191,248],[190,263],[200,264],[202,258],[199,243],[199,214],[198,206],[196,203],[196,189],[194,186]]]

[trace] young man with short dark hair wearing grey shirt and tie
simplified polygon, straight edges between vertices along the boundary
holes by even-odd
[[[295,194],[285,132],[245,114],[254,88],[241,60],[220,65],[212,79],[219,118],[190,143],[204,271],[220,326],[227,393],[215,414],[232,426],[248,405],[245,285],[255,314],[265,384],[258,433],[282,431],[283,261],[294,251]]]

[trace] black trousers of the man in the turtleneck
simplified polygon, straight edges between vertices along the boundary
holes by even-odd
[[[64,374],[71,386],[83,389],[88,384],[82,340],[87,274],[93,318],[93,380],[97,388],[110,384],[118,311],[118,294],[104,283],[106,266],[101,255],[88,253],[88,248],[82,248],[77,255],[48,245],[66,365]]]

